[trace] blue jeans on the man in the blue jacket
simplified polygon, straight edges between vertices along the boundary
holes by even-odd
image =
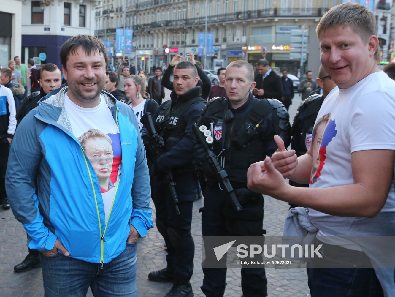
[[[111,262],[89,263],[57,253],[41,256],[45,297],[83,297],[88,288],[94,296],[137,297],[136,244],[126,244],[125,250]]]

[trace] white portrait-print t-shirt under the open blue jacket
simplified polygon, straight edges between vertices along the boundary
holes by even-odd
[[[99,181],[105,180],[104,187],[100,187],[104,204],[105,221],[107,221],[115,195],[117,182],[120,179],[122,167],[122,153],[120,144],[119,127],[111,114],[105,99],[100,95],[100,104],[93,108],[78,106],[66,93],[64,95],[64,108],[70,119],[71,129],[76,138],[90,130],[97,129],[103,136],[90,137],[83,149],[92,164]],[[100,135],[95,132],[94,135]],[[110,144],[111,140],[111,144]],[[108,178],[108,184],[107,179]]]

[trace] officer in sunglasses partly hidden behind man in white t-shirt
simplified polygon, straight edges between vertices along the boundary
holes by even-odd
[[[310,148],[312,144],[313,127],[318,111],[325,97],[336,87],[335,82],[331,79],[331,76],[328,75],[322,65],[320,65],[318,75],[319,78],[317,78],[316,81],[320,89],[322,89],[322,94],[311,95],[303,100],[297,108],[297,113],[293,118],[291,148],[295,150],[298,157],[304,155],[308,148]],[[294,185],[295,187],[308,187],[308,184],[304,185],[293,182],[292,180],[290,180],[290,185]],[[290,203],[291,208],[297,206],[296,204]]]

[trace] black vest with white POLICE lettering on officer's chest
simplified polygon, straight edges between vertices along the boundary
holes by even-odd
[[[173,102],[171,100],[164,102],[163,109],[154,119],[155,129],[158,131],[166,144],[166,151],[169,151],[177,142],[185,136],[186,121],[184,118],[186,110],[191,105],[198,102],[204,102],[200,97]]]

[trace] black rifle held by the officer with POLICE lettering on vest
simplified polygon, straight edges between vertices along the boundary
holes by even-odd
[[[152,121],[152,116],[150,112],[146,112],[140,119],[141,123],[143,123],[144,127],[147,129],[149,135],[151,136],[151,140],[149,142],[152,150],[154,151],[155,159],[158,159],[165,153],[165,142],[163,141],[162,136],[160,136],[154,126],[154,122]],[[166,186],[167,190],[170,193],[171,199],[175,205],[175,211],[177,214],[180,214],[180,210],[178,209],[178,197],[175,191],[175,182],[173,178],[173,174],[171,170],[167,170],[165,173],[166,176]]]

